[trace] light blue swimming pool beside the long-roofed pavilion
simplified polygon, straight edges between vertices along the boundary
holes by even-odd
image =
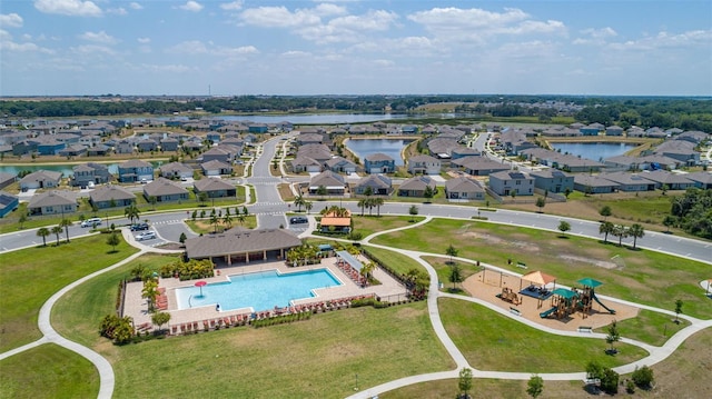
[[[251,311],[287,307],[295,299],[314,298],[317,288],[342,286],[328,269],[314,269],[290,273],[266,270],[245,275],[230,275],[228,281],[202,287],[176,289],[178,309],[220,305],[220,310],[251,308]]]

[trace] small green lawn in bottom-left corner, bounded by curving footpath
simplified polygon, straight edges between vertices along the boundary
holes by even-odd
[[[0,398],[96,398],[99,373],[81,356],[44,343],[0,361]]]

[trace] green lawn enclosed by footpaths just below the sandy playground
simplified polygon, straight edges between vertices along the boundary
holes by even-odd
[[[607,356],[605,340],[550,335],[464,300],[442,298],[438,306],[453,342],[479,370],[573,372],[584,371],[590,361],[616,367],[647,355],[619,342],[619,355]]]

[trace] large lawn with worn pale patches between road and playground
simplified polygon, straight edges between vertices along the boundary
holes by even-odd
[[[453,245],[459,257],[514,272],[522,272],[514,265],[523,261],[528,267],[527,271],[542,270],[556,276],[557,282],[566,286],[591,277],[604,283],[596,289],[601,295],[669,310],[674,310],[675,300],[681,299],[685,315],[712,318],[712,306],[699,285],[710,278],[709,265],[649,250],[621,248],[610,242],[604,245],[600,240],[560,236],[557,232],[474,220],[434,219],[417,229],[379,236],[373,243],[443,256]],[[623,260],[624,267],[606,269],[594,263],[615,266],[611,261],[615,256]],[[513,265],[507,265],[507,259]],[[463,268],[475,269],[476,266],[463,265]]]

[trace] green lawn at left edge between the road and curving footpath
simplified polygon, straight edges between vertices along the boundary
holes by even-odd
[[[63,237],[63,236],[62,236]],[[41,306],[62,287],[135,253],[123,240],[112,252],[107,235],[72,239],[55,247],[29,248],[0,255],[0,351],[40,338]]]

